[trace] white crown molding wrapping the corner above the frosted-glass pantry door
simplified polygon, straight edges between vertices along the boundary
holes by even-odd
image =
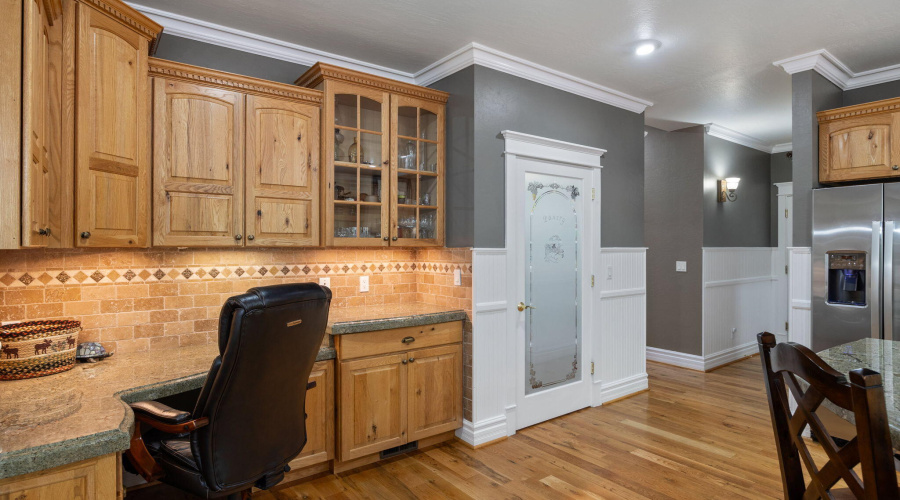
[[[417,85],[429,85],[473,64],[495,69],[634,113],[643,113],[647,107],[653,105],[650,101],[474,42],[417,71],[415,73],[415,82]]]

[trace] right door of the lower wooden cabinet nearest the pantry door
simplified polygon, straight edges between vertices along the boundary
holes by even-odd
[[[462,426],[462,345],[409,353],[409,440]]]

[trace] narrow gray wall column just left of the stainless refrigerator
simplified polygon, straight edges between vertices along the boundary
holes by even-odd
[[[819,187],[819,122],[816,112],[843,105],[841,89],[815,71],[791,75],[794,145],[794,246],[812,246],[812,190]]]

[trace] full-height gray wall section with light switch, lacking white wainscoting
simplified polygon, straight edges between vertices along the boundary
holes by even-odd
[[[647,345],[700,355],[705,132],[646,130]],[[676,260],[688,272],[676,273]]]

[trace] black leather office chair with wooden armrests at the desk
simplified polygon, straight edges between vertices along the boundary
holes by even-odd
[[[148,481],[194,495],[268,489],[306,445],[306,390],[331,291],[313,283],[253,288],[219,317],[219,356],[193,412],[134,403],[126,456]],[[155,431],[143,432],[149,426]]]

